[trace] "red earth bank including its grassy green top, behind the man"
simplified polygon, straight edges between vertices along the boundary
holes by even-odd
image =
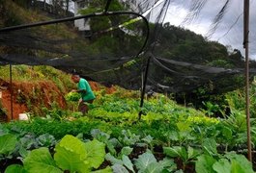
[[[43,108],[49,110],[59,108],[69,109],[65,95],[76,88],[71,82],[71,75],[50,66],[14,65],[12,67],[13,85],[10,83],[9,66],[0,66],[0,98],[1,116],[7,115],[12,119],[11,91],[13,90],[13,119],[19,113],[31,112],[36,115],[43,114]],[[105,87],[91,81],[92,89],[98,91],[105,89],[106,93],[115,90],[114,87]],[[12,89],[12,90],[11,90]],[[4,118],[3,118],[4,119]]]

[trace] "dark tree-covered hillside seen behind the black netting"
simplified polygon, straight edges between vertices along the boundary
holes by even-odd
[[[17,2],[0,2],[1,27],[53,19],[52,14]],[[150,56],[134,57],[145,41],[145,23],[128,26],[127,29],[134,30],[134,37],[122,30],[106,32],[112,24],[122,24],[127,18],[96,17],[90,21],[90,37],[79,33],[72,22],[18,30],[2,39],[0,35],[4,44],[0,49],[4,55],[2,63],[46,64],[66,72],[76,69],[100,84],[140,89],[142,72]],[[155,40],[156,29],[159,32]],[[148,86],[154,91],[173,94],[179,103],[192,103],[201,108],[202,102],[208,100],[225,105],[223,94],[244,86],[243,60],[238,50],[228,50],[224,45],[168,23],[162,26],[150,23],[146,48],[151,50],[154,41],[148,75]]]

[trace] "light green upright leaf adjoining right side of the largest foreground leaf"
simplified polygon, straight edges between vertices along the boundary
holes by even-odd
[[[85,149],[87,150],[87,158],[90,165],[94,168],[98,168],[104,161],[105,157],[105,144],[97,139],[85,143]]]

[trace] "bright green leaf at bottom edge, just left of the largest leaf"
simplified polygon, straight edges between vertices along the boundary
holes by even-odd
[[[39,148],[31,151],[24,160],[24,168],[28,172],[37,173],[61,173],[62,171],[56,166],[55,161],[50,156],[47,148]]]

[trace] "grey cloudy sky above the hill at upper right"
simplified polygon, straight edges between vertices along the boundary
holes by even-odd
[[[172,25],[184,27],[203,37],[209,36],[213,19],[221,8],[224,6],[226,0],[201,0],[206,2],[202,6],[201,11],[194,18],[189,18],[185,21],[185,17],[191,13],[191,5],[199,0],[171,0],[168,12],[164,19],[165,22],[170,22]],[[256,0],[250,0],[249,13],[249,58],[256,60]],[[227,11],[217,29],[209,37],[210,40],[216,40],[224,45],[231,46],[232,49],[239,49],[244,55],[242,47],[243,41],[243,1],[230,0]]]

